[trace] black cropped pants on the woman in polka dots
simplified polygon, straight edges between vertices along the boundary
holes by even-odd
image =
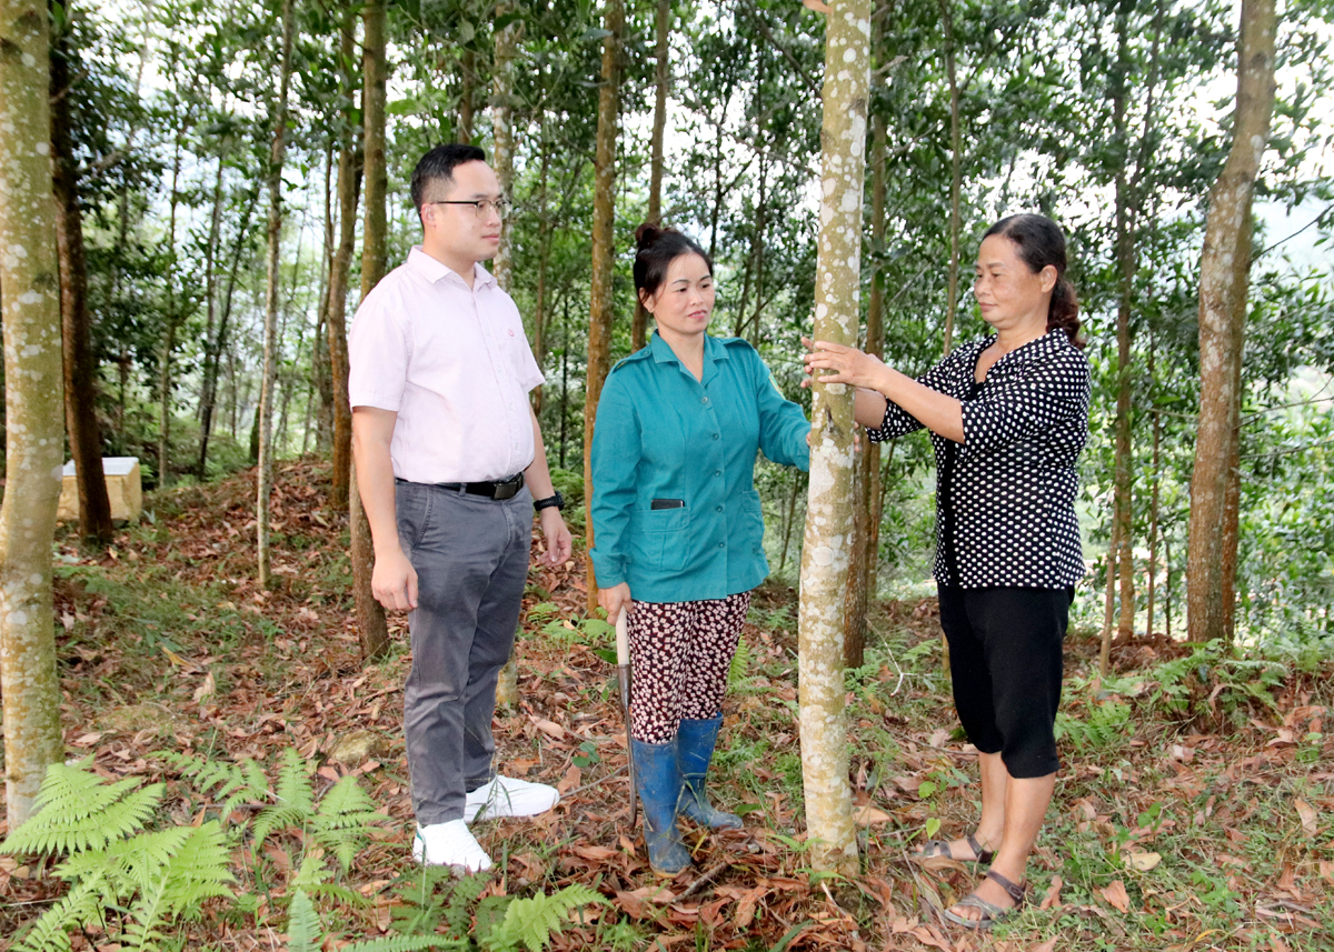
[[[939,585],[954,707],[968,740],[1013,777],[1061,767],[1055,723],[1074,588]]]

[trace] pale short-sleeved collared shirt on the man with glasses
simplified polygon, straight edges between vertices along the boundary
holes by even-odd
[[[528,391],[542,371],[510,295],[480,264],[472,283],[416,245],[356,309],[348,399],[399,415],[398,479],[482,483],[532,463]]]

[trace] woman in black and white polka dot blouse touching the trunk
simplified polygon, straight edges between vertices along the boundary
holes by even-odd
[[[998,221],[978,251],[974,297],[995,332],[918,380],[855,348],[815,341],[808,373],[854,384],[872,440],[926,428],[936,460],[940,625],[954,703],[979,751],[974,833],[916,859],[990,863],[946,911],[987,928],[1022,904],[1029,853],[1055,785],[1062,640],[1083,576],[1075,461],[1089,435],[1089,361],[1065,277],[1066,241],[1041,215]]]

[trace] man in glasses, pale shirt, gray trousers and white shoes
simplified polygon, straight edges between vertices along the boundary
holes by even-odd
[[[570,557],[571,540],[528,403],[542,372],[518,308],[480,265],[500,244],[506,211],[486,153],[431,149],[412,173],[412,201],[422,244],[352,323],[352,452],[375,597],[411,612],[403,724],[414,856],[478,872],[491,859],[468,823],[532,816],[560,799],[495,773],[491,716],[519,624],[530,507],[550,564]]]

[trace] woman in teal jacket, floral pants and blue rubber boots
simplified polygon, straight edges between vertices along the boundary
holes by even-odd
[[[635,291],[656,331],[598,401],[590,555],[608,620],[628,612],[644,840],[652,868],[675,875],[690,864],[678,812],[742,825],[708,804],[704,776],[750,592],[768,575],[755,455],[807,469],[810,423],[755,348],[707,333],[703,249],[672,228],[644,224],[635,237]]]

